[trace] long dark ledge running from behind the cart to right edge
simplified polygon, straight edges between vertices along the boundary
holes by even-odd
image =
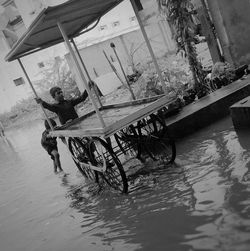
[[[237,80],[189,104],[166,119],[175,139],[191,134],[230,114],[230,106],[250,95],[250,76]]]

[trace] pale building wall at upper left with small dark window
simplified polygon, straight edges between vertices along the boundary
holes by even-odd
[[[62,3],[63,1],[15,0],[14,2],[17,6],[19,14],[22,16],[23,22],[17,23],[15,26],[11,27],[11,29],[16,33],[17,37],[21,37],[43,7],[47,4],[53,4],[55,2]],[[0,2],[0,4],[2,3],[5,3],[6,5],[6,1]],[[33,95],[28,81],[18,62],[13,61],[9,63],[4,60],[4,57],[10,50],[10,46],[1,29],[4,29],[7,26],[9,22],[8,18],[9,20],[13,19],[13,14],[10,13],[9,17],[2,15],[0,18],[0,21],[2,21],[2,25],[0,26],[0,113],[10,110],[20,100]],[[54,60],[56,56],[64,56],[65,53],[65,46],[60,44],[54,46],[53,48],[40,51],[36,54],[31,54],[21,60],[31,81],[35,82],[41,79],[41,76],[39,75],[39,72],[41,71],[39,63],[43,62],[46,64],[47,61]],[[23,78],[23,85],[15,85],[14,80],[18,78]]]

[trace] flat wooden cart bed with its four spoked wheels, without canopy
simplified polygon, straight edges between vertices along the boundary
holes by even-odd
[[[164,164],[176,156],[175,143],[168,135],[162,109],[174,99],[166,96],[103,106],[105,128],[98,128],[95,112],[81,116],[51,133],[68,138],[67,145],[83,175],[98,182],[99,177],[113,188],[128,191],[122,161],[149,157]]]

